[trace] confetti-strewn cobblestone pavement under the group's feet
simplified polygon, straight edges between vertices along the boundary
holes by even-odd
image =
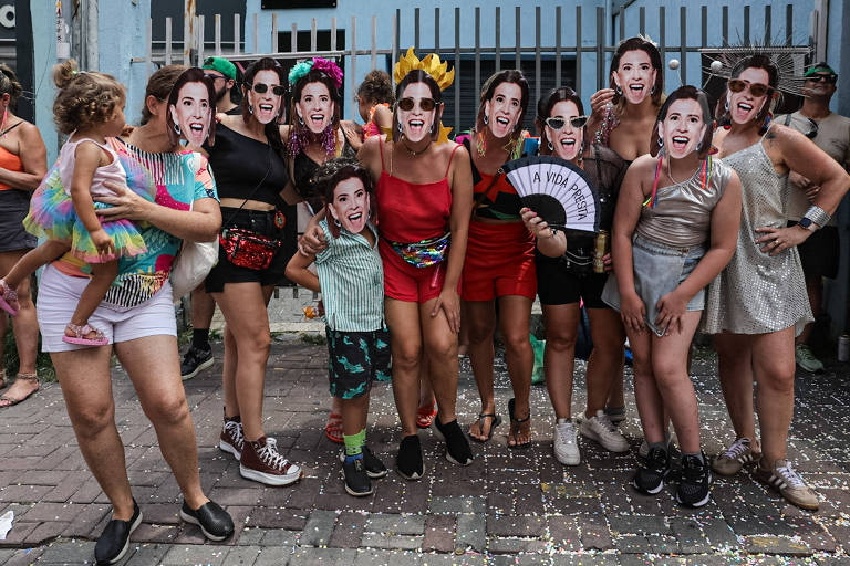
[[[850,371],[830,365],[821,376],[799,375],[790,457],[822,504],[817,513],[786,505],[748,473],[715,480],[713,501],[698,511],[675,504],[672,490],[639,495],[628,486],[640,442],[630,403],[622,428],[631,453],[613,455],[580,441],[582,463],[552,457],[552,411],[546,389],[532,390],[533,447],[506,448],[507,424],[487,444],[474,443],[475,462],[444,458],[432,431],[421,437],[426,475],[407,482],[396,473],[364,499],[345,494],[338,448],[322,432],[329,408],[324,346],[293,338],[272,346],[266,386],[266,430],[305,468],[294,486],[266,488],[243,480],[217,448],[221,426],[220,345],[217,364],[186,382],[200,444],[207,494],[227,506],[237,534],[205,543],[198,527],[177,515],[179,492],[139,410],[129,381],[115,373],[116,418],[144,523],[124,564],[211,565],[633,565],[633,564],[850,564]],[[583,366],[573,408],[583,407]],[[695,364],[704,448],[716,453],[733,440],[705,353]],[[631,379],[628,376],[626,382]],[[468,363],[463,364],[458,410],[466,429],[478,412]],[[631,389],[631,388],[630,388]],[[497,375],[497,406],[507,420],[510,389]],[[392,467],[397,447],[392,390],[376,386],[369,439]],[[108,521],[110,507],[86,470],[69,424],[60,388],[0,413],[0,515],[13,510],[14,527],[0,542],[0,564],[83,564]]]

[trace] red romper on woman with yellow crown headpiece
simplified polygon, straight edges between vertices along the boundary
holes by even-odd
[[[384,146],[381,144],[381,178],[376,193],[381,238],[377,249],[384,264],[384,295],[390,298],[425,303],[443,291],[448,250],[442,263],[417,268],[404,261],[387,240],[413,243],[446,233],[452,214],[448,169],[457,147],[452,151],[440,180],[416,184],[394,177],[384,169]]]

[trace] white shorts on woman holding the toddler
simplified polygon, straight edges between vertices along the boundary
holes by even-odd
[[[44,268],[35,305],[42,352],[69,352],[92,347],[62,342],[65,326],[71,322],[80,295],[89,281],[89,277],[65,275],[53,265]],[[166,281],[154,296],[136,306],[122,307],[101,303],[89,318],[89,324],[101,331],[110,344],[146,336],[177,336],[172,284]]]

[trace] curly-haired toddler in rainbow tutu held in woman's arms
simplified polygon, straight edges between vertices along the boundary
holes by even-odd
[[[79,72],[69,60],[53,67],[59,94],[53,103],[56,126],[69,139],[53,168],[32,195],[24,228],[46,241],[29,251],[0,279],[0,308],[18,314],[14,289],[37,269],[71,251],[92,264],[92,279],[65,327],[63,340],[83,346],[108,343],[89,317],[103,301],[118,272],[118,259],[144,253],[147,248],[128,220],[101,222],[94,199],[114,196],[105,186],[127,185],[127,174],[106,138],[124,129],[124,86],[104,73]],[[152,195],[143,195],[148,200]]]

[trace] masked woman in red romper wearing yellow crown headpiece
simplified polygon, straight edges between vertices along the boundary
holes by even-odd
[[[452,84],[454,71],[446,73],[446,64],[440,66],[434,55],[419,61],[410,50],[394,74],[398,85],[392,138],[366,139],[359,158],[377,184],[384,314],[393,353],[393,395],[402,421],[396,467],[404,478],[418,480],[424,473],[416,428],[423,358],[431,368],[439,407],[434,426],[446,441],[446,458],[460,465],[473,461],[455,415],[458,281],[471,179],[466,150],[442,139],[442,90]]]

